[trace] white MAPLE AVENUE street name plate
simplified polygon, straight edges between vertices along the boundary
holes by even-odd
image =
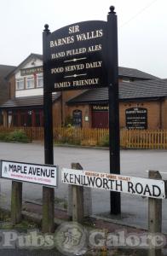
[[[57,169],[57,166],[1,161],[1,177],[45,186],[57,186]]]

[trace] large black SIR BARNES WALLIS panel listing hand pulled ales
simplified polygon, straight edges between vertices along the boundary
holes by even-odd
[[[107,22],[84,21],[49,33],[49,92],[107,86]]]

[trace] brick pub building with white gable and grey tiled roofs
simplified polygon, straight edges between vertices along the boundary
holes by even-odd
[[[0,105],[4,126],[43,126],[43,55],[31,54],[6,77],[9,99]],[[120,128],[167,128],[167,80],[119,67]],[[108,128],[108,89],[52,93],[53,125]]]

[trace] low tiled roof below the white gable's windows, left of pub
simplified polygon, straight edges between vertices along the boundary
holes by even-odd
[[[52,102],[60,97],[60,92],[52,95]],[[43,96],[27,96],[10,99],[1,105],[0,108],[26,108],[26,107],[43,107]]]

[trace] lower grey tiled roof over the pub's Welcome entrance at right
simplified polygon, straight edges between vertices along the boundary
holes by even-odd
[[[167,96],[167,82],[162,80],[144,80],[135,82],[119,82],[119,99],[151,99]],[[79,96],[69,100],[67,104],[107,102],[108,89],[98,88],[86,90]]]

